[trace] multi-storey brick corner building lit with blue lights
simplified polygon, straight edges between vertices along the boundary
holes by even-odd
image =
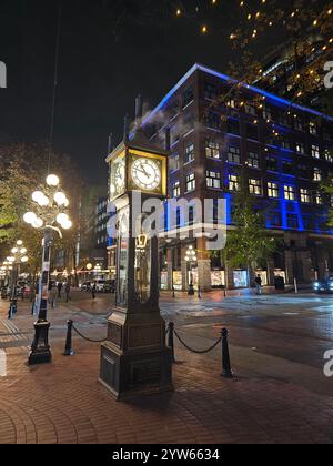
[[[333,171],[333,118],[195,64],[142,126],[160,144],[170,128],[171,197],[226,199],[230,229],[241,179],[269,205],[265,227],[283,246],[259,271],[264,283],[273,284],[278,274],[286,283],[310,282],[333,271],[333,232],[326,225],[332,200],[321,191]],[[193,275],[201,288],[250,284],[245,270],[225,273],[205,241],[161,245],[162,287],[186,287],[189,245],[198,251]]]

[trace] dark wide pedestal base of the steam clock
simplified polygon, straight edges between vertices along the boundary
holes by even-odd
[[[159,313],[112,314],[101,347],[100,382],[118,401],[173,391],[172,352]]]

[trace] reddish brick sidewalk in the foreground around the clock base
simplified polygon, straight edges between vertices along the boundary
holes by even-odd
[[[216,361],[179,352],[175,392],[117,403],[97,382],[99,345],[53,346],[51,365],[29,368],[7,351],[0,376],[0,444],[332,443],[333,398],[275,382],[225,381]]]

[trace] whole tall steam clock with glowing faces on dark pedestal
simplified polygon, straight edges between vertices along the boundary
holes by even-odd
[[[167,197],[169,152],[139,130],[107,159],[117,207],[117,297],[101,348],[101,383],[117,399],[172,389],[172,356],[159,307],[159,239],[134,233],[133,200]]]

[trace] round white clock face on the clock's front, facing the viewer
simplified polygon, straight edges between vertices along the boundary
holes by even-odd
[[[137,159],[132,164],[132,179],[138,188],[154,191],[161,183],[161,168],[150,159]]]

